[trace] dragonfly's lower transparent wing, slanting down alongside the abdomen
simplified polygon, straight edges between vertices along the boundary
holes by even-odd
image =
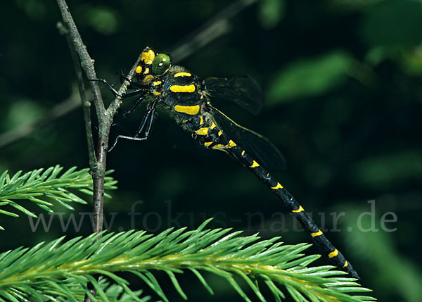
[[[236,124],[236,122],[212,106],[210,106],[210,113],[227,137],[245,149],[260,165],[263,165],[268,170],[286,170],[286,160],[279,149],[268,139]]]

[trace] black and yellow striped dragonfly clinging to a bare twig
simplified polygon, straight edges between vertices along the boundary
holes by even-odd
[[[119,135],[117,139],[148,139],[155,116],[155,107],[166,108],[174,120],[192,134],[193,139],[207,149],[224,151],[254,173],[290,210],[309,232],[315,245],[331,262],[359,279],[357,272],[337,248],[324,236],[321,229],[300,206],[298,201],[272,177],[266,168],[282,169],[285,165],[279,149],[260,134],[242,127],[212,106],[212,101],[231,101],[251,113],[262,107],[262,92],[250,77],[232,79],[210,77],[201,80],[186,68],[172,65],[170,56],[158,54],[147,47],[135,70],[135,80],[130,81],[132,92],[118,94],[105,80],[115,95],[138,96],[125,115],[132,113],[143,100],[149,100],[147,112],[134,137]],[[117,143],[115,140],[115,144]],[[113,149],[113,146],[110,149]],[[264,168],[266,167],[266,168]]]

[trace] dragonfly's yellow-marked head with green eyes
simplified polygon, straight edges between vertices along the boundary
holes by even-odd
[[[141,61],[135,69],[136,77],[142,84],[149,84],[165,75],[171,65],[169,55],[157,54],[153,49],[146,47],[146,49],[143,49]]]

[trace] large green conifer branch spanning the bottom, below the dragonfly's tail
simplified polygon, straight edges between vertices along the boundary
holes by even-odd
[[[276,301],[285,298],[284,292],[295,301],[375,300],[369,296],[352,296],[370,290],[361,287],[355,279],[343,277],[345,272],[333,270],[332,266],[308,267],[319,258],[302,253],[309,244],[283,245],[279,237],[259,240],[256,234],[241,237],[240,232],[230,229],[204,229],[209,221],[192,231],[167,229],[156,236],[134,231],[101,232],[65,243],[61,237],[48,244],[1,253],[0,297],[18,299],[18,296],[34,296],[34,292],[40,297],[52,292],[66,296],[70,291],[66,282],[77,282],[79,289],[90,295],[86,285],[89,281],[96,289],[96,296],[90,296],[92,301],[110,301],[100,282],[92,277],[101,275],[120,286],[133,301],[139,301],[128,282],[115,275],[115,272],[132,272],[168,301],[152,272],[166,272],[181,297],[187,298],[177,275],[190,270],[210,293],[212,289],[203,272],[226,279],[245,301],[251,298],[234,279],[236,275],[260,301],[266,298],[258,281],[267,285]]]

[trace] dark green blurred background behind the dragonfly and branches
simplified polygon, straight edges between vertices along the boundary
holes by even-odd
[[[68,5],[98,77],[117,86],[117,73],[127,72],[145,46],[175,51],[177,63],[200,77],[255,77],[266,95],[260,115],[218,107],[279,147],[288,170],[274,175],[328,232],[379,301],[422,301],[422,1],[234,3]],[[222,19],[197,40],[207,44],[189,43],[193,32],[222,11]],[[55,1],[8,1],[0,17],[0,172],[87,167],[75,72],[56,29]],[[107,89],[103,96],[113,99]],[[113,127],[113,136],[133,134],[144,109],[129,118],[117,115],[122,127]],[[281,236],[286,244],[310,241],[254,175],[223,153],[198,148],[163,111],[151,139],[120,141],[108,154],[108,168],[119,181],[104,209],[112,231],[194,228],[215,217],[211,227]],[[1,215],[6,228],[1,251],[91,232],[87,217],[80,229],[72,222],[63,227],[70,213],[79,223],[91,206],[55,210],[63,214],[34,232],[27,218]],[[319,251],[311,247],[307,253]],[[167,277],[158,276],[169,298],[180,301],[170,283],[166,289]],[[179,281],[191,301],[241,300],[221,279],[207,278],[215,297],[187,272]],[[130,280],[132,287],[145,288],[139,279]]]

